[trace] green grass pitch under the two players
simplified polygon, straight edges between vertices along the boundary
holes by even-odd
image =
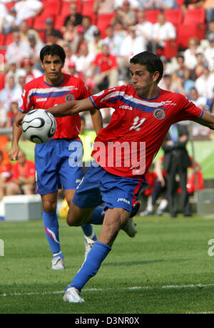
[[[0,222],[0,314],[214,313],[214,256],[208,255],[214,217],[135,220],[138,234],[131,239],[119,233],[98,275],[83,289],[81,304],[62,300],[83,261],[81,228],[60,220],[66,270],[54,272],[41,220]]]

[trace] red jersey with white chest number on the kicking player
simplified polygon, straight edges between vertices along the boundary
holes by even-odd
[[[99,131],[92,157],[108,172],[140,178],[148,172],[170,125],[193,120],[203,110],[179,93],[160,89],[156,98],[141,98],[133,86],[91,96],[96,108],[112,107],[111,123]]]

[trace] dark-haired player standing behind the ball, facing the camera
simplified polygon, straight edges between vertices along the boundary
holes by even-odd
[[[27,83],[19,100],[19,118],[22,113],[31,109],[48,109],[57,104],[71,100],[88,98],[90,93],[81,79],[62,72],[66,54],[61,46],[44,46],[40,53],[44,76]],[[102,128],[101,114],[95,109],[91,111],[93,126],[98,133]],[[37,192],[43,202],[43,220],[46,237],[53,253],[52,269],[63,270],[64,260],[58,234],[58,218],[56,215],[58,189],[63,187],[68,203],[73,199],[76,186],[83,176],[81,166],[71,167],[69,160],[76,148],[81,145],[78,138],[81,121],[78,114],[56,118],[57,130],[54,138],[48,143],[36,145],[36,183]],[[14,125],[13,142],[10,152],[11,160],[19,158],[19,138],[21,127]],[[90,250],[96,240],[91,225],[83,225],[86,250]]]

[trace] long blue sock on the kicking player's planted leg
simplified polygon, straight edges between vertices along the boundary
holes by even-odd
[[[88,253],[86,261],[83,262],[81,269],[68,287],[74,287],[81,291],[84,285],[86,285],[86,282],[97,274],[103,260],[106,259],[106,256],[110,251],[110,246],[103,244],[103,242],[96,242]],[[66,289],[68,289],[68,287],[66,287]]]

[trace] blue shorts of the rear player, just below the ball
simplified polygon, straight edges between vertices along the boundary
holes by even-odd
[[[82,152],[82,143],[76,139],[53,139],[48,143],[37,144],[35,148],[37,193],[47,195],[61,188],[75,190],[83,178]],[[73,160],[78,165],[73,164]]]

